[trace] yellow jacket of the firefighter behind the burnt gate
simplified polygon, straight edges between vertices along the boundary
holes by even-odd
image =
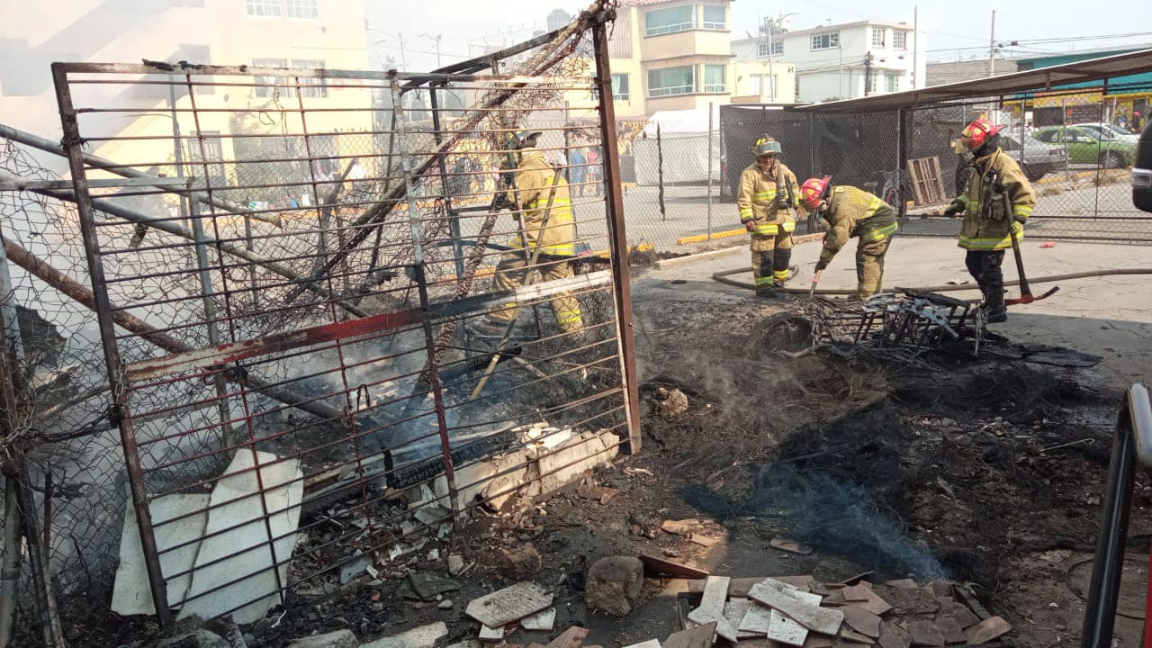
[[[575,256],[571,197],[563,175],[556,179],[555,194],[552,194],[552,181],[556,173],[544,153],[536,149],[524,149],[521,152],[520,166],[516,168],[515,203],[523,210],[520,217],[524,225],[529,250],[537,249],[539,241],[540,254]],[[547,209],[550,195],[552,195],[551,210]],[[548,226],[541,232],[545,212],[548,213]],[[508,244],[513,248],[525,247],[520,235]]]

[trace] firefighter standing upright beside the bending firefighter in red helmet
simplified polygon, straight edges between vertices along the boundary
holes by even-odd
[[[761,135],[752,145],[756,161],[740,175],[736,206],[740,221],[752,235],[752,277],[756,294],[772,296],[788,279],[791,233],[796,229],[793,208],[799,205],[796,174],[778,158],[780,142]]]

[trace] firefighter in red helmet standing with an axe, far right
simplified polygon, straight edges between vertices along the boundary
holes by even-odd
[[[1036,205],[1036,191],[1024,172],[999,145],[1002,127],[986,119],[969,123],[956,140],[956,153],[972,152],[975,160],[968,171],[964,191],[945,211],[946,216],[964,214],[960,228],[960,247],[969,273],[984,293],[988,322],[1005,322],[1005,278],[1001,271],[1005,249],[1011,247],[1011,232],[1024,236],[1024,223]],[[1011,213],[1006,213],[1007,194]]]

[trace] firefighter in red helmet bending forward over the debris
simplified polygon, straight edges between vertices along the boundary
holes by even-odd
[[[897,229],[896,210],[856,187],[833,187],[831,180],[831,176],[810,178],[801,187],[804,206],[823,216],[829,227],[816,271],[824,272],[849,239],[859,239],[856,296],[863,301],[879,293],[884,282],[884,256]]]

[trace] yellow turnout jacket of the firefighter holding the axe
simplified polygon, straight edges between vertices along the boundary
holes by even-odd
[[[1011,213],[995,205],[980,203],[984,186],[994,174],[1000,175],[1000,183],[1008,194]],[[996,194],[992,194],[995,196]],[[1009,224],[1016,231],[1016,238],[1024,238],[1024,226],[1016,223],[1017,217],[1028,219],[1036,205],[1036,191],[1021,171],[1016,160],[996,149],[992,153],[977,158],[968,169],[968,183],[964,193],[957,196],[964,203],[964,223],[960,228],[958,246],[967,250],[1002,250],[1011,247]]]

